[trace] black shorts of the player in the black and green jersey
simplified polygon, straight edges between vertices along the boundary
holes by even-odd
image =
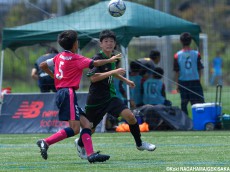
[[[93,128],[96,128],[106,113],[109,113],[117,118],[119,117],[120,113],[127,108],[128,107],[121,99],[113,97],[102,105],[86,106],[85,116],[91,123],[93,123]]]

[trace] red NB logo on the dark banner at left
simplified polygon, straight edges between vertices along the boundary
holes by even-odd
[[[43,101],[23,101],[12,118],[36,118],[44,106]]]

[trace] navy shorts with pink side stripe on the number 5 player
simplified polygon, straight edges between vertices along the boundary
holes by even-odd
[[[78,106],[77,94],[72,88],[62,88],[57,91],[56,105],[59,109],[59,120],[80,120],[80,115],[85,114]]]

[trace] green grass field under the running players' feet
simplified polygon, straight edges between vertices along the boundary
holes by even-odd
[[[43,160],[35,143],[47,136],[0,135],[0,171],[160,172],[192,167],[225,167],[230,171],[229,131],[142,133],[143,140],[156,144],[154,152],[138,151],[130,133],[96,133],[93,136],[95,151],[100,150],[111,158],[95,164],[77,156],[74,138],[52,145],[48,160]]]

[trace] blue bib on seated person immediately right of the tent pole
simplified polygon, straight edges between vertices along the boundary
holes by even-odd
[[[135,87],[130,89],[130,98],[134,100],[136,105],[142,104],[142,94],[141,94],[141,79],[140,75],[130,76],[129,79],[135,83]]]

